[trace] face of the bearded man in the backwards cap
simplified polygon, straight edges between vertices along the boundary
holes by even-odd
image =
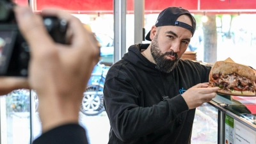
[[[191,25],[187,15],[181,15],[177,20]],[[192,33],[180,26],[161,26],[152,33],[150,50],[157,68],[161,72],[171,72],[188,48]]]

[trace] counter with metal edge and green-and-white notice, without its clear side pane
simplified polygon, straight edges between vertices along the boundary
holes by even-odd
[[[208,104],[218,109],[218,144],[256,144],[256,97],[217,94]]]

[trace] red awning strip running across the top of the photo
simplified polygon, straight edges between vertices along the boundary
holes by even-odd
[[[28,4],[28,0],[15,0]],[[127,0],[127,13],[133,13],[134,0]],[[71,13],[113,13],[113,0],[31,0],[33,10],[59,7]],[[168,6],[181,6],[191,13],[256,13],[256,0],[145,0],[145,13],[159,13]]]

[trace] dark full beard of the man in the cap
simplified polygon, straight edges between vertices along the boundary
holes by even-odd
[[[158,44],[158,33],[155,36],[154,40],[152,40],[151,43],[151,54],[156,61],[156,68],[159,69],[161,72],[170,73],[172,70],[176,67],[176,65],[179,62],[179,57],[176,52],[170,51],[170,52],[162,52],[159,49]],[[166,56],[174,56],[175,60],[166,59]]]

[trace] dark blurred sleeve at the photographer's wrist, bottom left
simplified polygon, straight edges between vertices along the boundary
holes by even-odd
[[[88,144],[86,132],[79,124],[65,124],[55,127],[33,141],[33,144]]]

